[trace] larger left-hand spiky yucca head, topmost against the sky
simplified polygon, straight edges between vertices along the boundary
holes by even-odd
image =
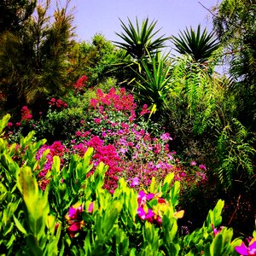
[[[143,57],[154,55],[160,48],[165,47],[164,43],[169,38],[164,38],[165,35],[155,38],[154,36],[160,32],[160,29],[154,31],[154,27],[157,21],[148,22],[148,18],[143,20],[142,26],[139,26],[138,20],[136,19],[136,27],[132,25],[131,20],[128,18],[128,26],[120,20],[121,26],[124,32],[116,34],[119,38],[122,38],[125,42],[120,43],[114,41],[120,48],[126,50],[127,55],[131,55],[137,60],[143,59]]]

